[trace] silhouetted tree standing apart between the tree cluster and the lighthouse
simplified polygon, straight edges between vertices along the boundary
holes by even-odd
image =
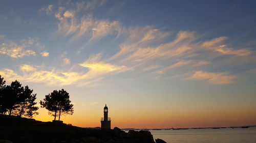
[[[54,116],[54,121],[62,114],[72,115],[74,112],[73,104],[69,100],[69,93],[65,90],[54,90],[51,94],[46,95],[44,101],[40,101],[41,107],[49,110],[49,114]],[[58,115],[57,115],[58,112]]]

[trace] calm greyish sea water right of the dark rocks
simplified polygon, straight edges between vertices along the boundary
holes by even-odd
[[[150,130],[168,143],[255,143],[256,127],[225,129]]]

